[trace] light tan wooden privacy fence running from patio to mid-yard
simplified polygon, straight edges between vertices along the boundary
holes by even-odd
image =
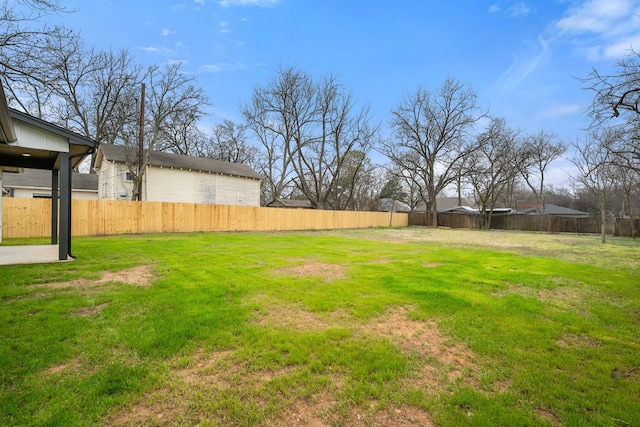
[[[168,202],[73,200],[71,233],[98,236],[123,233],[193,231],[279,231],[403,227],[408,215],[388,212],[279,209]],[[51,200],[5,197],[4,238],[51,235]]]

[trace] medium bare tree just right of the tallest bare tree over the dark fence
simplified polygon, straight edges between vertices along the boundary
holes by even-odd
[[[465,176],[480,210],[481,228],[488,229],[497,201],[527,161],[527,153],[519,131],[507,127],[504,119],[492,119],[477,142],[478,149],[470,155]]]

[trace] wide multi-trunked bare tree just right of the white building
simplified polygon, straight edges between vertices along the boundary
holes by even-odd
[[[358,109],[335,77],[314,83],[296,68],[256,87],[242,112],[265,150],[267,192],[282,197],[295,188],[321,209],[335,208],[331,196],[350,153],[368,153],[377,135],[368,109]]]

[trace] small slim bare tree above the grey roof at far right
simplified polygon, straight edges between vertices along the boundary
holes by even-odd
[[[567,146],[552,132],[541,130],[524,140],[528,162],[520,171],[522,178],[544,210],[544,178],[549,165],[567,151]]]

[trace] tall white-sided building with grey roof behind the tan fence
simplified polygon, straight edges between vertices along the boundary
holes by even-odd
[[[101,144],[94,169],[100,199],[131,199],[133,177],[127,167],[124,146]],[[260,174],[243,164],[152,151],[143,175],[142,199],[260,206],[260,178]]]

